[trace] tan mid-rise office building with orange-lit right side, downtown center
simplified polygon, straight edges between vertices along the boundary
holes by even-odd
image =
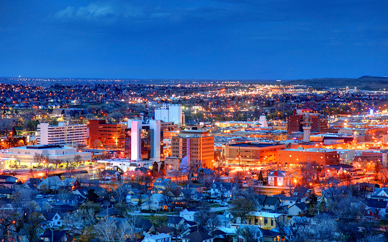
[[[172,157],[185,160],[188,164],[200,164],[212,168],[214,160],[214,136],[209,131],[180,131],[171,139]]]

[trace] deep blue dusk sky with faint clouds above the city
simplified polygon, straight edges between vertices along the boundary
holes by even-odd
[[[384,76],[387,0],[0,0],[0,76]]]

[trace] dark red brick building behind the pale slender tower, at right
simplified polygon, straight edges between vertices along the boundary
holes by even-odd
[[[311,122],[311,132],[327,133],[329,131],[326,115],[298,110],[297,114],[290,115],[290,117],[287,118],[288,134],[292,134],[292,132],[303,132],[303,122],[306,116],[308,116],[308,119]]]

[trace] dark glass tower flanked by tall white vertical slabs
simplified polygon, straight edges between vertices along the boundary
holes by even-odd
[[[131,160],[161,161],[161,121],[129,120],[125,130],[125,156]]]

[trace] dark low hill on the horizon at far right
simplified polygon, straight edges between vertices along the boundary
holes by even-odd
[[[282,85],[307,85],[315,88],[357,88],[359,90],[388,91],[388,77],[361,76],[359,78],[314,78],[281,82]]]

